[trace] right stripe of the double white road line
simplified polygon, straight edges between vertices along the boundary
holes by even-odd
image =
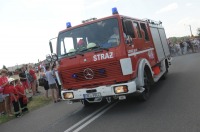
[[[114,104],[110,105],[108,108],[104,109],[103,111],[101,111],[100,113],[98,113],[96,116],[92,117],[90,120],[88,120],[87,122],[85,122],[84,124],[82,124],[80,127],[78,127],[73,132],[79,132],[81,129],[83,129],[84,127],[86,127],[87,125],[89,125],[91,122],[93,122],[95,119],[97,119],[98,117],[100,117],[101,115],[103,115],[106,111],[108,111],[109,109],[111,109],[117,103],[118,102],[115,102]]]

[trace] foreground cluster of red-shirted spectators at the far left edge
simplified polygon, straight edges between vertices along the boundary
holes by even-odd
[[[28,111],[25,86],[19,79],[8,78],[6,69],[0,70],[0,112],[1,115],[20,117]],[[12,112],[14,108],[14,114]]]

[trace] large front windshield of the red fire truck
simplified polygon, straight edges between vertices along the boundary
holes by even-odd
[[[111,18],[61,33],[58,36],[58,56],[115,47],[120,42],[118,27],[117,19]]]

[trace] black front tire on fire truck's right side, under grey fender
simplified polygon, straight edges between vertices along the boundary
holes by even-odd
[[[144,91],[139,95],[139,101],[147,101],[150,97],[150,87],[151,87],[151,82],[150,82],[150,76],[148,72],[145,70],[144,71]]]

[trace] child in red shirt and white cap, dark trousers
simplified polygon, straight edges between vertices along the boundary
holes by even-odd
[[[13,78],[9,78],[10,80],[10,100],[13,104],[14,107],[14,112],[15,112],[15,117],[21,117],[21,112],[20,112],[20,108],[19,108],[19,95],[18,95],[18,90],[15,88],[15,79]]]

